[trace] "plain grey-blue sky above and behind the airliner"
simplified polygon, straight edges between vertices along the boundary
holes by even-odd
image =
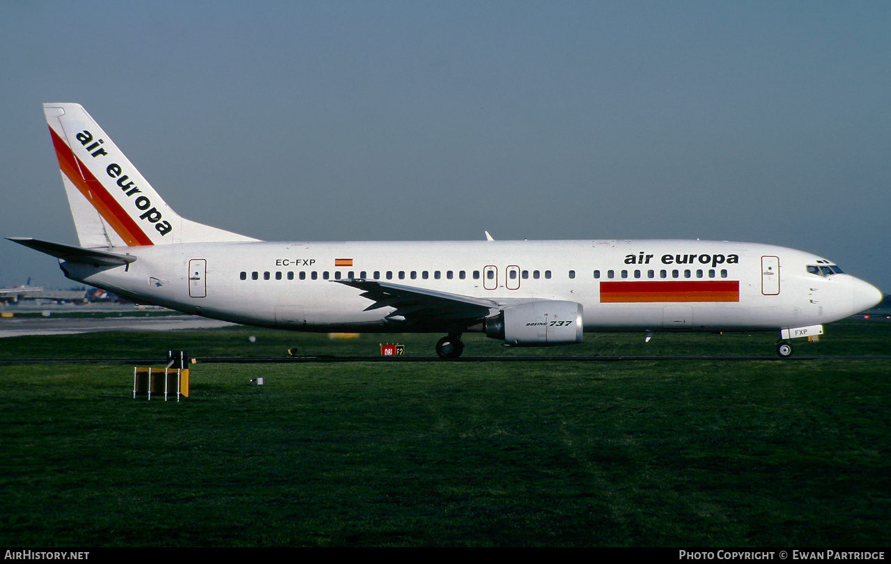
[[[0,53],[4,236],[77,242],[40,104],[79,102],[259,239],[757,241],[891,291],[887,2],[20,1]]]

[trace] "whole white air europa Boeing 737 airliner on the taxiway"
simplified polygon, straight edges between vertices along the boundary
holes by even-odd
[[[140,303],[293,331],[464,332],[515,346],[584,331],[777,331],[882,299],[831,261],[728,241],[258,241],[180,217],[76,103],[44,104],[79,246],[11,238]],[[487,233],[486,233],[487,234]]]

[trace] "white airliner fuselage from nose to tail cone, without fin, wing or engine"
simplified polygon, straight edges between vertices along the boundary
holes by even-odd
[[[780,330],[830,323],[881,299],[848,274],[809,272],[830,265],[811,253],[728,241],[218,242],[110,250],[137,260],[63,268],[140,302],[298,331],[454,330],[435,322],[408,327],[388,318],[392,307],[368,309],[373,302],[362,290],[333,282],[359,278],[503,306],[577,302],[584,331]]]

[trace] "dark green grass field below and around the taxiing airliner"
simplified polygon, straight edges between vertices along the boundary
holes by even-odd
[[[891,323],[797,354],[887,354]],[[250,343],[249,336],[256,336]],[[0,358],[372,355],[439,336],[244,328],[0,339]],[[465,355],[761,354],[770,335],[586,335]],[[887,545],[891,361],[0,364],[7,546]],[[263,376],[266,385],[249,380]]]

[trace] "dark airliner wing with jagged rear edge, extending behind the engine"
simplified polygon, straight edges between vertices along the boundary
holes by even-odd
[[[491,308],[499,307],[498,302],[486,298],[472,298],[461,294],[450,294],[425,288],[403,286],[378,280],[353,278],[333,280],[341,284],[364,290],[363,298],[374,303],[365,311],[380,307],[395,307],[396,311],[388,318],[415,323],[470,322],[489,315]]]

